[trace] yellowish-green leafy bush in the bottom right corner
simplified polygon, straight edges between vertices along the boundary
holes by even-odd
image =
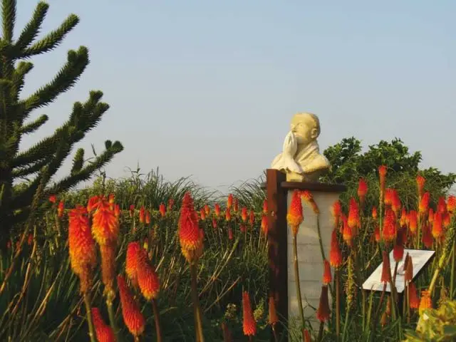
[[[405,332],[405,342],[455,341],[456,301],[444,301],[439,309],[427,309],[420,317],[416,331]]]

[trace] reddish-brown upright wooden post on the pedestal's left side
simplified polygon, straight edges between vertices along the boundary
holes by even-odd
[[[288,261],[286,233],[286,190],[281,183],[286,175],[278,170],[266,170],[266,198],[268,202],[268,257],[269,257],[269,291],[274,297],[276,311],[283,323],[276,324],[278,336],[286,335],[288,321]],[[273,337],[272,337],[273,338]],[[274,340],[272,340],[274,341]]]

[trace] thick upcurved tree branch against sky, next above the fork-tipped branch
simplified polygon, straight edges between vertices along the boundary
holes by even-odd
[[[26,100],[22,101],[25,104],[24,118],[31,113],[32,110],[36,108],[43,107],[53,102],[61,93],[66,92],[71,88],[83,71],[88,66],[88,49],[84,46],[81,46],[78,51],[68,51],[68,61],[66,64],[58,71],[57,75],[53,80],[46,84],[46,86],[41,87],[33,93]]]

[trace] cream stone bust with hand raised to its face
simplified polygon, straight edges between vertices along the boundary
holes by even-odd
[[[313,113],[297,113],[291,119],[283,152],[277,155],[271,168],[286,172],[287,182],[317,182],[331,165],[320,153],[318,142],[320,120]]]

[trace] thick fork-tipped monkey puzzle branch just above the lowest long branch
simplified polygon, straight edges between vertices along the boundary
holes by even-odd
[[[105,113],[105,111],[109,108],[109,105],[106,103],[98,103],[101,95],[103,95],[103,93],[100,91],[91,91],[90,98],[84,105],[76,102],[73,105],[73,112],[71,113],[70,118],[61,126],[60,129],[76,125],[78,130],[83,131],[83,133],[88,133],[96,126],[96,124],[101,120],[103,113]],[[50,137],[44,138],[36,145],[33,145],[28,150],[21,152],[14,158],[14,160],[11,161],[12,167],[24,167],[26,165],[31,165],[34,162],[42,160],[43,157],[46,157],[46,155],[52,154],[56,150],[58,139],[57,134],[58,133],[56,132]],[[82,138],[83,136],[81,139]],[[73,141],[73,143],[74,142],[78,142],[78,140]]]

